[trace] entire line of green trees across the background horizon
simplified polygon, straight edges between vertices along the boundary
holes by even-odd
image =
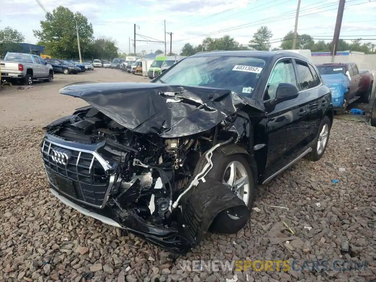
[[[53,58],[70,59],[79,57],[77,45],[77,29],[80,38],[80,49],[83,59],[111,59],[124,58],[125,56],[145,56],[146,51],[142,50],[138,54],[119,53],[117,42],[105,36],[100,38],[94,37],[92,24],[80,12],[73,13],[64,6],[59,6],[45,15],[45,20],[40,21],[41,29],[33,30],[33,34],[38,38],[37,45],[45,46],[45,54],[51,55]],[[278,48],[273,50],[290,50],[293,47],[294,33],[288,32],[281,40],[272,39],[273,33],[267,26],[261,26],[252,36],[248,44],[240,44],[229,35],[220,38],[206,37],[201,44],[193,46],[186,43],[180,55],[190,56],[198,52],[206,52],[213,50],[270,50],[272,43],[280,43]],[[6,27],[0,30],[0,55],[4,52],[22,52],[19,43],[24,41],[24,36],[17,30]],[[314,40],[309,34],[298,34],[296,40],[297,49],[310,49],[312,52],[330,52],[332,50],[332,42],[324,40]],[[350,43],[340,39],[338,43],[338,51],[359,51],[368,53],[376,53],[375,45],[370,42],[362,43],[361,38],[354,39]],[[157,50],[154,54],[164,53]],[[177,55],[177,54],[168,54]]]

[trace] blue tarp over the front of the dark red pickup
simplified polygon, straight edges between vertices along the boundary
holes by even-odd
[[[322,74],[326,86],[332,91],[332,100],[334,107],[342,107],[344,95],[349,91],[351,80],[343,73]]]

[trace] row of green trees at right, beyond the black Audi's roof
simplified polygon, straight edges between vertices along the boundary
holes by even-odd
[[[291,50],[293,49],[294,32],[288,32],[281,40],[273,40],[273,33],[267,26],[261,26],[254,34],[248,44],[240,44],[229,35],[220,38],[206,37],[201,44],[193,46],[186,43],[180,55],[190,56],[198,52],[208,52],[214,50],[271,50],[272,43],[280,43],[279,47],[272,50]],[[309,34],[297,34],[296,49],[310,49],[312,52],[330,52],[333,49],[333,43],[324,40],[314,40]],[[350,43],[343,39],[338,42],[337,51],[358,51],[366,54],[376,53],[375,45],[371,42],[362,43],[361,38],[352,40]]]

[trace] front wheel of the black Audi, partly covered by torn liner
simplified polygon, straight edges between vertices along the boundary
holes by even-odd
[[[223,157],[217,151],[213,152],[211,161],[213,167],[209,170],[208,177],[217,179],[226,185],[230,191],[237,194],[248,207],[252,209],[255,199],[255,183],[249,162],[244,154],[234,154]],[[205,154],[197,162],[194,176],[199,174],[206,164]],[[236,214],[229,211],[220,212],[215,217],[210,231],[218,233],[236,233],[244,226],[244,221],[240,220]],[[213,227],[215,230],[213,230]]]

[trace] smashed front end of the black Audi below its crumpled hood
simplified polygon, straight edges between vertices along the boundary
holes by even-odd
[[[226,99],[230,103],[231,97]],[[236,214],[239,219],[237,226],[227,226],[229,233],[244,226],[249,218],[247,205],[229,186],[207,174],[219,147],[249,146],[246,115],[237,112],[220,123],[212,120],[217,125],[206,123],[209,129],[194,124],[190,128],[197,133],[167,138],[161,136],[166,127],[160,119],[153,124],[163,128],[148,125],[141,130],[148,119],[124,120],[115,110],[109,112],[115,118],[109,117],[102,107],[77,109],[45,127],[42,159],[56,197],[83,214],[176,253],[196,246],[209,227],[215,232],[212,223],[220,212]],[[220,230],[224,224],[219,223]]]

